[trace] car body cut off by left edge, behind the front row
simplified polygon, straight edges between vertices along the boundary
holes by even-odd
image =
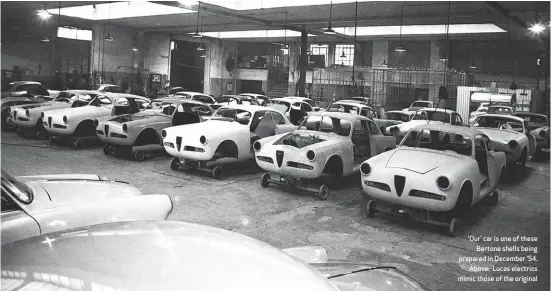
[[[0,98],[2,131],[13,131],[16,129],[15,123],[11,122],[9,118],[11,106],[49,101],[48,97],[50,93],[39,82],[12,82],[8,84],[7,88],[2,88],[2,90]]]

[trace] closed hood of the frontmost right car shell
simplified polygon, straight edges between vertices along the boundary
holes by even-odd
[[[442,166],[457,164],[461,161],[458,154],[418,148],[399,147],[395,149],[386,163],[386,168],[409,170],[426,174]]]

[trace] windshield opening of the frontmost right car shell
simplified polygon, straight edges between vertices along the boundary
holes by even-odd
[[[460,155],[472,155],[472,140],[469,136],[438,130],[410,130],[400,146],[453,151]]]

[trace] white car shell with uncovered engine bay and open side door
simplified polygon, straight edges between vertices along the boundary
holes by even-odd
[[[370,153],[366,157],[371,157],[391,150],[396,147],[395,139],[391,136],[384,136],[379,128],[375,125],[372,119],[367,117],[338,112],[322,112],[319,115],[339,118],[349,121],[352,124],[352,129],[348,136],[341,136],[336,133],[327,133],[312,130],[298,129],[292,133],[284,133],[270,138],[265,138],[259,143],[260,150],[255,153],[256,163],[258,166],[268,172],[277,173],[280,175],[292,178],[318,178],[324,172],[326,165],[330,159],[337,157],[342,161],[342,176],[349,176],[359,170],[360,162],[355,162],[355,146],[352,142],[352,135],[356,129],[357,121],[373,123],[373,129],[377,130],[376,134],[371,134],[369,130]],[[285,138],[290,138],[292,135],[298,135],[300,138],[309,139],[307,145],[299,148],[298,146],[286,145],[281,141]],[[255,150],[258,148],[254,146]],[[277,152],[282,153],[281,163],[278,160]],[[314,160],[307,158],[307,152],[315,153]],[[266,158],[271,159],[271,162]],[[298,167],[298,164],[309,166],[310,168]]]

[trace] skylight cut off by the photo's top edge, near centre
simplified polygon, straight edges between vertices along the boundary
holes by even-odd
[[[197,1],[182,0],[178,1],[184,5],[197,4]],[[204,3],[218,5],[234,10],[252,10],[252,9],[266,9],[277,7],[296,7],[296,6],[310,6],[310,5],[329,5],[331,0],[204,0]],[[333,4],[342,3],[354,3],[354,0],[333,0]],[[365,0],[359,0],[358,2],[369,2]]]

